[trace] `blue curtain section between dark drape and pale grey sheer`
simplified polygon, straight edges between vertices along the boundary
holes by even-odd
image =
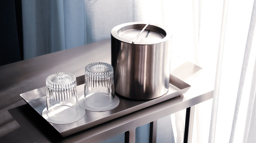
[[[24,59],[86,44],[84,0],[22,0]]]

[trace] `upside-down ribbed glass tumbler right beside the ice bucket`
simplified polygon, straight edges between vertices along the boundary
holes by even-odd
[[[96,62],[85,67],[85,103],[93,108],[105,108],[114,103],[115,87],[113,67]]]

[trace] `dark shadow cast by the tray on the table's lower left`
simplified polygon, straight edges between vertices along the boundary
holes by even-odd
[[[1,137],[7,142],[47,143],[61,142],[64,138],[28,104],[8,110],[20,127]]]

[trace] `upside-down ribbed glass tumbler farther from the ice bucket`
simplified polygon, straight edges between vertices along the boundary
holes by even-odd
[[[78,115],[76,78],[67,72],[54,73],[46,79],[47,116],[53,120],[70,120]]]

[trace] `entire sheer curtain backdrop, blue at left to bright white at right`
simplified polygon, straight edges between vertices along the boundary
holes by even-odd
[[[192,142],[255,142],[255,4],[22,0],[24,58],[110,38],[111,29],[122,23],[162,24],[173,32],[171,64],[190,61],[215,78],[214,98],[195,106]],[[183,142],[184,115],[181,111],[160,119],[158,125],[165,129],[157,141]]]

